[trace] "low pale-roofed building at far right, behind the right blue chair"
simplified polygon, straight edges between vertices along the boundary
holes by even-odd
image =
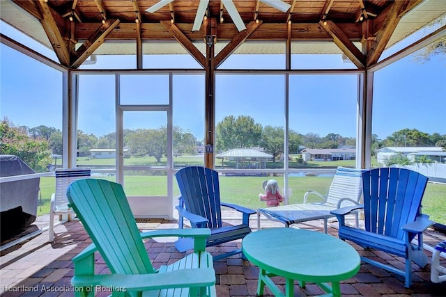
[[[446,161],[446,152],[443,151],[443,147],[383,147],[376,150],[376,160],[384,164],[396,154],[403,154],[410,161],[415,161],[416,156],[427,156],[438,162]]]

